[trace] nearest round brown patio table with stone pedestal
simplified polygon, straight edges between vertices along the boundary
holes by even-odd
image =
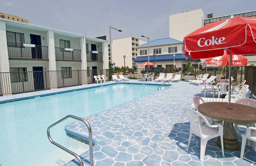
[[[233,123],[252,124],[256,123],[256,108],[227,102],[206,102],[198,106],[198,111],[207,117],[223,120],[223,146],[229,151],[239,150],[237,135]],[[221,147],[220,138],[217,144]]]

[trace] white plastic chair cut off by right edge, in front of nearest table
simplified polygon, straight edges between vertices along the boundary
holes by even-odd
[[[252,150],[256,150],[256,128],[255,127],[248,127],[246,129],[246,132],[241,134],[241,136],[242,136],[242,146],[241,146],[240,159],[243,160],[246,139],[249,139],[249,140],[253,141],[253,143],[252,143]]]

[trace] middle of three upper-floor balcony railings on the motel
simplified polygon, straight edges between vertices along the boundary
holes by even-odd
[[[81,50],[66,51],[63,48],[55,47],[55,57],[56,59],[81,60]]]

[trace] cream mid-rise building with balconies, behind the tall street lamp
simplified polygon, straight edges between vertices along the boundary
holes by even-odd
[[[135,37],[127,37],[122,39],[116,39],[113,40],[111,46],[112,46],[112,63],[115,66],[121,67],[125,66],[128,67],[136,67],[136,63],[134,63],[134,60],[137,57],[137,49],[136,47],[145,44],[147,41],[140,40]],[[109,45],[108,45],[109,47]],[[110,49],[108,49],[108,52]],[[125,58],[124,58],[125,55]],[[110,52],[109,52],[110,56]],[[110,57],[109,57],[110,60]]]

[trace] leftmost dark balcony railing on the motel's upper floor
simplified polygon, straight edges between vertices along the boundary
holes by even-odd
[[[48,59],[48,47],[24,47],[23,44],[7,42],[8,56],[18,58]]]

